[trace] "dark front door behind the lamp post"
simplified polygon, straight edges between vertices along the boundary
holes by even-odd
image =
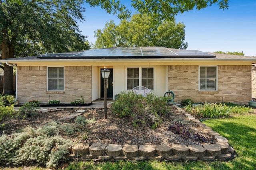
[[[103,70],[101,68],[100,70]],[[107,98],[113,98],[113,68],[108,68],[110,70],[109,77],[107,79]],[[104,98],[104,78],[101,76],[100,72],[100,98]]]

